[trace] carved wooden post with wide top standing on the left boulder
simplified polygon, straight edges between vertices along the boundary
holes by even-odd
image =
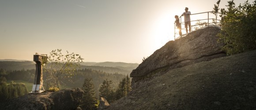
[[[34,55],[34,62],[36,62],[36,73],[34,84],[31,93],[40,93],[43,86],[43,64],[47,61],[48,57],[45,54]]]

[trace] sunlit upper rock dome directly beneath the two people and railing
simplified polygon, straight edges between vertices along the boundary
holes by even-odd
[[[132,88],[136,88],[142,79],[152,77],[153,73],[161,75],[168,70],[226,56],[221,50],[222,44],[217,43],[218,32],[220,28],[209,26],[169,41],[132,71]]]

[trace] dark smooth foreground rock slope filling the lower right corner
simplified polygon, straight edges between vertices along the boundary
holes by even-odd
[[[105,110],[256,110],[256,50],[169,70]]]

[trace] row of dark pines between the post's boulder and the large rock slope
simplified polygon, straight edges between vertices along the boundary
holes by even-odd
[[[86,77],[84,79],[82,90],[84,92],[83,99],[80,107],[83,110],[97,110],[99,101],[97,100],[96,92],[94,91],[93,79]],[[111,80],[104,80],[100,85],[99,97],[105,98],[109,103],[113,103],[117,99],[127,96],[131,92],[131,80],[127,75],[118,84],[117,88],[114,89]]]

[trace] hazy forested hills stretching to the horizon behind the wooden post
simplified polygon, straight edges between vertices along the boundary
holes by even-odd
[[[60,89],[82,88],[85,78],[92,78],[92,83],[94,84],[94,90],[96,93],[95,95],[98,97],[99,89],[103,81],[112,81],[111,86],[113,87],[113,90],[116,91],[120,81],[129,75],[137,66],[136,63],[123,62],[97,63],[99,66],[96,66],[97,64],[94,62],[91,64],[94,65],[86,66],[81,64],[80,68],[76,71],[75,76],[72,76],[72,78],[61,79],[57,82],[57,87]],[[46,65],[44,70],[47,69]],[[17,83],[31,84],[26,85],[27,89],[31,90],[31,86],[34,83],[35,68],[35,62],[32,61],[0,61],[0,77],[6,78],[7,82],[14,81]],[[55,84],[50,81],[51,79],[49,77],[49,73],[43,71],[43,87],[45,90],[55,86]]]

